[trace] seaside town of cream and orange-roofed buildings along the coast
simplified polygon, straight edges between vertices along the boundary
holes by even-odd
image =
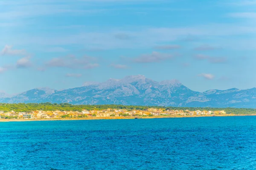
[[[106,109],[87,111],[32,111],[7,112],[0,111],[0,119],[70,119],[70,118],[93,118],[93,117],[157,117],[157,116],[218,116],[226,115],[225,111],[189,111],[189,110],[164,110],[148,108],[147,111],[127,109]]]

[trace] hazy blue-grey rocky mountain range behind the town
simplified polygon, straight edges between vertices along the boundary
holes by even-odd
[[[2,103],[120,104],[174,107],[256,108],[256,88],[192,91],[178,80],[156,82],[143,75],[106,82],[85,82],[66,90],[35,88],[14,96],[0,92]]]

